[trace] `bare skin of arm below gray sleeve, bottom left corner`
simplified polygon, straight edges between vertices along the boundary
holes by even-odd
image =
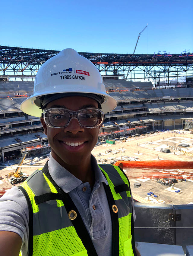
[[[0,252],[4,256],[18,256],[22,245],[19,235],[10,231],[0,231]]]

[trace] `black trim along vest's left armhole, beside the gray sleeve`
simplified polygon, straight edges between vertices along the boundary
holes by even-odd
[[[27,201],[28,209],[29,209],[29,243],[28,243],[29,254],[28,256],[33,256],[33,209],[32,209],[30,198],[26,190],[21,186],[19,186],[18,188],[23,192]]]

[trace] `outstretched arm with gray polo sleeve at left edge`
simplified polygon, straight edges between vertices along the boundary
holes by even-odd
[[[0,255],[18,256],[21,246],[23,255],[27,255],[28,220],[25,197],[13,187],[0,198]]]

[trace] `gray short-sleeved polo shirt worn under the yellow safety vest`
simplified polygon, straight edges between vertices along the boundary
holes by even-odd
[[[91,162],[95,172],[95,184],[92,191],[88,182],[83,184],[81,180],[56,162],[51,154],[48,161],[49,173],[53,180],[69,194],[78,208],[97,254],[110,256],[112,225],[104,190],[104,184],[108,185],[108,182],[93,156],[91,156]],[[12,231],[21,236],[22,256],[28,256],[28,224],[29,214],[26,199],[18,187],[13,187],[0,198],[0,231]]]

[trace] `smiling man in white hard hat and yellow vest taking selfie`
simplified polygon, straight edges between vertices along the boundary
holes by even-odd
[[[40,117],[50,158],[0,199],[1,255],[140,255],[128,178],[91,154],[116,106],[96,66],[75,50],[40,67],[21,110]]]

